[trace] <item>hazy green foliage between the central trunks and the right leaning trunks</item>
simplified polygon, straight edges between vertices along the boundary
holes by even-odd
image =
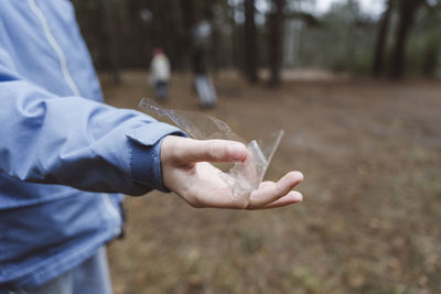
[[[300,66],[367,72],[376,25],[363,14],[358,3],[335,2],[320,22],[321,26],[304,28],[301,32]]]

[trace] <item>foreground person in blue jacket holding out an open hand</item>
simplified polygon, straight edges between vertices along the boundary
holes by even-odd
[[[237,209],[302,199],[298,172],[235,197],[208,162],[245,161],[245,145],[104,104],[69,1],[0,1],[0,293],[111,293],[120,193]]]

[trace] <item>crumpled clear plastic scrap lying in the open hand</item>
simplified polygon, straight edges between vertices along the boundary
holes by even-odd
[[[226,122],[215,117],[195,111],[166,109],[151,98],[142,98],[139,107],[150,115],[169,117],[193,139],[224,139],[245,143],[251,156],[245,162],[235,163],[228,173],[222,172],[219,175],[233,188],[235,196],[249,194],[259,187],[284,133],[280,130],[270,133],[265,140],[246,143]]]

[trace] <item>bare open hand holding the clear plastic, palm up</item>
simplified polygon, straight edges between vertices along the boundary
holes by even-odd
[[[197,208],[262,209],[302,200],[302,195],[292,190],[303,181],[300,172],[289,172],[277,183],[262,182],[251,194],[235,196],[209,162],[244,162],[247,156],[247,148],[239,142],[168,135],[161,145],[163,183]]]

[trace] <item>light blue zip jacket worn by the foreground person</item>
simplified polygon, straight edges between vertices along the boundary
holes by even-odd
[[[114,193],[165,189],[171,133],[103,104],[69,1],[0,1],[0,288],[41,285],[115,238]]]

